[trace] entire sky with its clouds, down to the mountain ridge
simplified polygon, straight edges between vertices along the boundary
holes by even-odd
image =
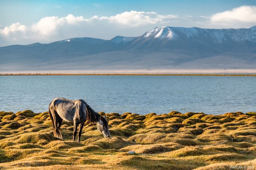
[[[0,46],[256,25],[255,0],[0,0]]]

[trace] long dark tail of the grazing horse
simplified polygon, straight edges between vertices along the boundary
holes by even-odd
[[[55,137],[63,139],[62,134],[60,133],[60,130],[58,128],[58,118],[59,118],[59,115],[56,113],[54,108],[51,108],[51,104],[52,104],[52,102],[49,105],[49,115],[50,115],[50,118],[51,118],[51,122],[53,124],[53,135]],[[53,114],[54,114],[54,116],[53,116]]]

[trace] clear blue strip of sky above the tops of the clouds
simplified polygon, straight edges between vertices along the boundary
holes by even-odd
[[[255,0],[0,0],[0,24],[33,24],[45,16],[68,14],[84,18],[111,16],[125,11],[159,14],[209,16],[242,5],[256,5]]]

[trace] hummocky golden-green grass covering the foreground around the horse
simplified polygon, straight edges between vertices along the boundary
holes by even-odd
[[[0,112],[0,169],[256,169],[255,112],[100,114],[111,138],[85,125],[79,143],[70,122],[54,137],[48,112]]]

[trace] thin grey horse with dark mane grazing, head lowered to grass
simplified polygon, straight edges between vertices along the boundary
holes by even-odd
[[[89,123],[97,124],[98,131],[100,131],[104,137],[110,137],[106,116],[103,118],[99,113],[96,113],[84,100],[54,98],[49,104],[49,114],[53,122],[53,134],[60,139],[63,139],[60,133],[62,120],[74,122],[73,140],[75,140],[77,127],[79,125],[78,142],[80,142],[82,129],[86,120]]]

